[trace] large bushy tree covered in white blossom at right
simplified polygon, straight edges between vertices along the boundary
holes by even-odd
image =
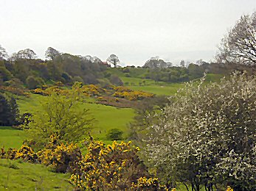
[[[151,126],[145,155],[163,179],[256,187],[256,79],[234,73],[219,84],[187,84]]]

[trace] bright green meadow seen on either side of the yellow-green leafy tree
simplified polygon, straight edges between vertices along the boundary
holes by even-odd
[[[31,94],[30,98],[19,97],[17,100],[21,113],[35,112],[40,110],[40,102],[44,101],[46,97],[42,95]],[[93,135],[100,140],[105,140],[105,133],[109,129],[121,129],[125,132],[124,136],[128,134],[127,123],[134,118],[134,109],[131,108],[117,108],[105,106],[102,104],[81,103],[79,109],[90,109],[91,115],[95,118]]]

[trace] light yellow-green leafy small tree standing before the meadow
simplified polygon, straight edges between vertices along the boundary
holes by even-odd
[[[41,111],[33,113],[31,122],[24,128],[35,141],[35,147],[44,146],[51,134],[60,140],[77,142],[89,132],[93,118],[89,109],[77,109],[80,101],[76,88],[69,95],[50,94],[41,103]]]

